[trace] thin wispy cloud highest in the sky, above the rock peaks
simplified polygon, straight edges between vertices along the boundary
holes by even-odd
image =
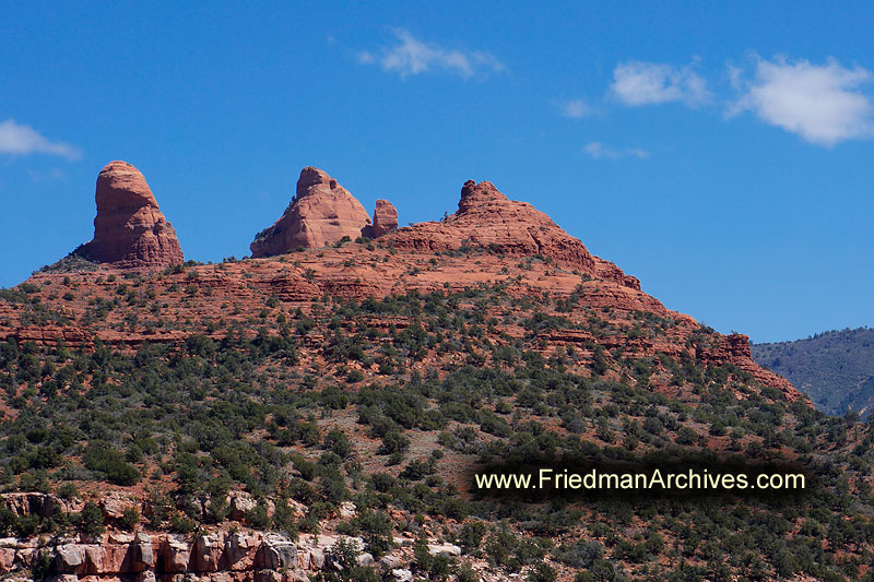
[[[394,31],[397,43],[377,52],[358,52],[362,64],[379,63],[386,72],[402,78],[442,70],[469,79],[504,70],[504,64],[492,54],[482,50],[448,49],[434,43],[424,43],[409,31]]]

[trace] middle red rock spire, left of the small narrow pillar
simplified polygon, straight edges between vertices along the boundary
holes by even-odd
[[[344,236],[355,240],[369,224],[367,211],[345,188],[319,168],[306,167],[288,209],[249,248],[256,258],[320,248]]]

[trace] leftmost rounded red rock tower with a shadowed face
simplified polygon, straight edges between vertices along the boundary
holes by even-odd
[[[110,162],[97,176],[94,239],[76,253],[120,269],[160,271],[185,262],[176,230],[161,213],[143,175]]]

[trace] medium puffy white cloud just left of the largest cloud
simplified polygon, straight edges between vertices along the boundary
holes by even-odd
[[[700,105],[710,97],[707,82],[692,67],[659,62],[622,62],[613,70],[612,93],[625,105],[681,102]]]

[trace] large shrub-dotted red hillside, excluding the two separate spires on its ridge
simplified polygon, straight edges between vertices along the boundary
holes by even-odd
[[[665,309],[543,215],[518,228],[530,206],[477,188],[445,230],[152,273],[68,261],[3,290],[0,535],[20,541],[0,569],[867,575],[870,427],[816,412],[745,336]],[[498,499],[470,479],[647,459],[786,461],[808,488]]]

